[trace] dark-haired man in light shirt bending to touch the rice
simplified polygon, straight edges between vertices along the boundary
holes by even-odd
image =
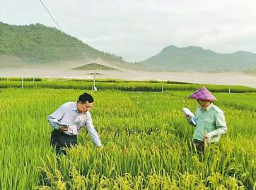
[[[76,102],[66,102],[47,117],[54,130],[51,135],[51,145],[56,146],[57,155],[63,153],[64,148],[70,148],[77,144],[77,135],[81,128],[86,125],[93,143],[98,148],[103,148],[98,133],[96,132],[91,118],[93,97],[84,93]]]

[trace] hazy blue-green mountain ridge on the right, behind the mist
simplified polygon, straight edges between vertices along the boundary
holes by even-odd
[[[139,64],[151,70],[243,71],[256,68],[256,53],[216,53],[198,46],[167,46]]]

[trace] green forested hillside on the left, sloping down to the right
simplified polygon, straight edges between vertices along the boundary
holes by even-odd
[[[10,60],[21,60],[24,65],[98,57],[125,65],[122,57],[98,51],[55,27],[41,24],[17,26],[0,22],[0,62],[5,65]]]

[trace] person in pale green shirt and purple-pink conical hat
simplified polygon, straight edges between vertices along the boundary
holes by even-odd
[[[195,124],[192,122],[190,115],[186,115],[186,118],[191,125],[195,126],[193,144],[198,152],[202,152],[204,151],[205,141],[209,143],[217,142],[221,138],[221,134],[227,132],[225,116],[223,111],[212,103],[217,99],[206,87],[195,91],[190,99],[196,99],[199,103],[199,108],[197,108],[193,118]]]

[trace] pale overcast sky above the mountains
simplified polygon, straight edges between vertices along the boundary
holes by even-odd
[[[42,0],[64,32],[142,61],[165,46],[256,53],[255,0]],[[0,0],[1,22],[54,26],[39,0]]]

